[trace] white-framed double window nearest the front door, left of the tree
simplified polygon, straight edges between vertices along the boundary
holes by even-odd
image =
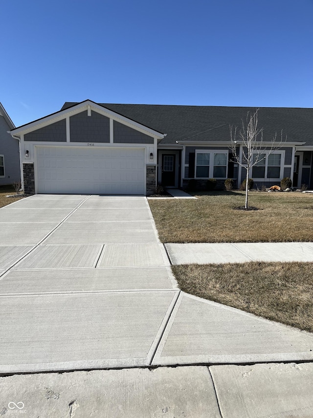
[[[196,150],[196,178],[227,178],[228,152]]]

